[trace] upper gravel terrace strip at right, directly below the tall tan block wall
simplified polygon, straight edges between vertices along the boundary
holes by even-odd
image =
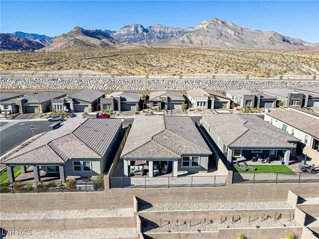
[[[288,202],[247,202],[247,203],[178,203],[139,204],[139,211],[190,211],[190,210],[232,210],[232,209],[283,209],[293,208]]]

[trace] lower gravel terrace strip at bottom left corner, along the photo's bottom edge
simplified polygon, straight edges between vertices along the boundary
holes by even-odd
[[[14,235],[13,235],[14,234]],[[31,231],[29,236],[18,236],[17,232],[7,234],[5,239],[102,239],[102,238],[133,238],[138,237],[136,228],[111,228],[111,229],[83,229],[68,231]]]

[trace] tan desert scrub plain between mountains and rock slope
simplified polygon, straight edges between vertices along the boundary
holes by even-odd
[[[90,70],[105,74],[318,75],[316,51],[215,48],[123,48],[93,51],[1,51],[0,70]]]

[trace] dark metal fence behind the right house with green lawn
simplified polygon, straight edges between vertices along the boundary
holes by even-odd
[[[319,174],[233,173],[233,184],[319,183]]]

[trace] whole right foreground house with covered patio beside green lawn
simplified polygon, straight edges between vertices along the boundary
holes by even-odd
[[[229,164],[233,157],[249,158],[254,154],[284,157],[288,164],[300,141],[256,115],[203,114],[202,125]]]

